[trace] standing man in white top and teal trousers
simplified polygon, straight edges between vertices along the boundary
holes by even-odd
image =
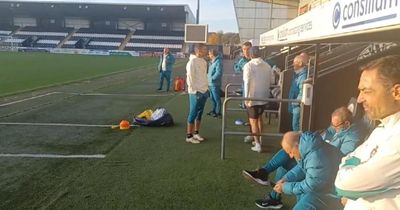
[[[198,144],[204,140],[199,131],[208,97],[207,61],[204,60],[207,55],[207,47],[204,44],[197,44],[194,52],[195,56],[186,64],[186,83],[189,93],[186,142]]]

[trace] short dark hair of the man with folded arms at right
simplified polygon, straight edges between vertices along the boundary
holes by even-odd
[[[386,85],[400,84],[400,55],[388,55],[362,66],[361,71],[377,70]]]

